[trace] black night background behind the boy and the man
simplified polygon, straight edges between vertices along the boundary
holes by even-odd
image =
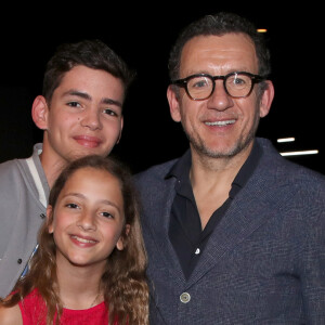
[[[122,139],[113,153],[133,172],[180,156],[187,141],[169,116],[169,51],[179,31],[193,20],[232,11],[258,28],[268,28],[275,100],[258,135],[269,138],[280,152],[318,150],[318,155],[288,159],[325,173],[324,28],[318,5],[309,2],[308,6],[283,9],[250,1],[240,8],[218,1],[174,1],[133,6],[125,2],[12,6],[2,12],[0,23],[0,161],[29,156],[34,143],[42,140],[30,108],[41,93],[44,66],[56,47],[93,38],[106,42],[138,73],[125,105]],[[296,142],[277,144],[276,139],[284,136],[295,136]]]

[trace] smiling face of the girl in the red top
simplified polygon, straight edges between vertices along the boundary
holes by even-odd
[[[119,181],[91,167],[74,172],[62,188],[49,232],[56,244],[56,262],[105,268],[116,247],[123,249],[123,198]]]

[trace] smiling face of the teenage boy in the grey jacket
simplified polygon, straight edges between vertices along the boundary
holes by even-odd
[[[123,94],[121,80],[104,70],[79,65],[66,73],[46,107],[43,155],[107,156],[122,129]]]

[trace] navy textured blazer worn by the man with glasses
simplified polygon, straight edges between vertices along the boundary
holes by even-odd
[[[259,165],[187,281],[168,237],[176,160],[136,176],[151,324],[325,324],[325,178],[256,141]]]

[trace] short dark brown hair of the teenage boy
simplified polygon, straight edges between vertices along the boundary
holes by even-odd
[[[133,73],[122,58],[101,40],[63,43],[56,49],[46,68],[42,94],[49,105],[64,75],[78,65],[107,72],[122,81],[125,92],[133,79]]]

